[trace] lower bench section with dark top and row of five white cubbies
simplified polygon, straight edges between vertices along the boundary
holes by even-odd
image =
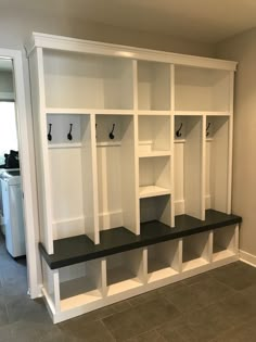
[[[102,230],[100,244],[86,235],[42,243],[43,296],[60,322],[239,259],[242,218],[207,210],[205,220],[176,216],[176,226],[152,220],[140,236],[125,227]]]

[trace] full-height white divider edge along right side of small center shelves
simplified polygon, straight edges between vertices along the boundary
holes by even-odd
[[[175,65],[170,65],[170,226],[175,227]],[[181,266],[180,266],[181,267]]]

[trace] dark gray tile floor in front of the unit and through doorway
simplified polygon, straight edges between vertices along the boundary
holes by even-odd
[[[256,268],[241,262],[53,325],[0,239],[0,342],[255,342]]]

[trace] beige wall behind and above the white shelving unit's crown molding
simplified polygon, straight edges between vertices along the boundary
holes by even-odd
[[[89,40],[99,40],[104,42],[113,42],[120,45],[129,45],[141,48],[158,49],[165,51],[172,51],[178,53],[197,54],[203,56],[214,55],[214,46],[206,43],[195,43],[189,40],[175,38],[174,36],[162,36],[154,34],[146,34],[143,31],[133,31],[128,29],[120,29],[113,26],[101,25],[97,23],[82,22],[67,17],[49,17],[41,12],[15,11],[15,9],[0,10],[0,48],[18,49],[23,51],[23,63],[25,73],[25,90],[27,115],[29,117],[28,127],[30,144],[30,157],[34,159],[33,144],[33,124],[30,114],[30,92],[29,92],[29,76],[28,64],[24,50],[24,41],[30,37],[33,31],[40,31],[46,34],[54,34],[62,36],[69,36],[75,38],[82,38]],[[35,187],[35,169],[31,183]],[[37,195],[34,193],[34,207],[37,213]],[[38,221],[35,221],[36,229],[36,249],[38,245]],[[40,283],[40,263],[39,255],[37,255],[38,264],[38,282]]]

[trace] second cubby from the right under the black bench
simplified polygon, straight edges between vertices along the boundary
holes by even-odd
[[[209,232],[201,232],[182,240],[182,271],[191,270],[209,263]]]

